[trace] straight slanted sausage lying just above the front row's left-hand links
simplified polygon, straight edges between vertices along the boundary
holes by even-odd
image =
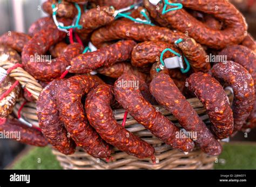
[[[116,44],[100,48],[95,52],[80,54],[71,61],[71,73],[89,73],[100,67],[111,66],[116,62],[131,59],[133,40],[118,41]]]

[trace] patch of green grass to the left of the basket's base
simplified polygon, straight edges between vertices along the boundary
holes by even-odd
[[[50,147],[36,147],[19,159],[11,169],[62,169]]]

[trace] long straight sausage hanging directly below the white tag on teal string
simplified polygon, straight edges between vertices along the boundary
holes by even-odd
[[[219,155],[222,147],[208,130],[186,98],[181,94],[170,76],[159,74],[150,83],[150,91],[158,103],[175,116],[188,132],[196,134],[195,142],[209,155]]]

